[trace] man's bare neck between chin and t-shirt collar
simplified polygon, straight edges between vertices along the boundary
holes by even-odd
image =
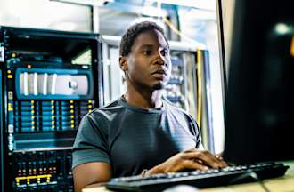
[[[128,104],[138,108],[160,108],[162,107],[161,95],[161,90],[139,92],[132,87],[127,87],[124,97]]]

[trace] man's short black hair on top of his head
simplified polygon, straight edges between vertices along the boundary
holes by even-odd
[[[152,29],[159,30],[159,32],[162,34],[162,36],[164,36],[164,38],[167,41],[167,36],[165,36],[163,28],[161,28],[155,22],[143,21],[135,23],[135,25],[132,25],[131,27],[127,28],[126,33],[121,37],[119,45],[119,55],[127,56],[131,52],[131,48],[135,42],[135,38],[139,36],[141,33]]]

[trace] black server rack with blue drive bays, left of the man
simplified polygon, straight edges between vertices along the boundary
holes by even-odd
[[[1,189],[73,191],[79,121],[103,104],[98,34],[0,28]]]

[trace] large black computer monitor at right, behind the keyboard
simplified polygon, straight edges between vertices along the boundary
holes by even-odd
[[[225,159],[294,159],[294,9],[236,0],[225,100]]]

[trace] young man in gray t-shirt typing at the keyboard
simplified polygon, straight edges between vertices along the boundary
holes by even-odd
[[[83,118],[73,151],[76,191],[142,172],[225,167],[224,161],[202,149],[192,116],[162,99],[171,73],[162,28],[149,21],[131,26],[119,53],[127,92]]]

